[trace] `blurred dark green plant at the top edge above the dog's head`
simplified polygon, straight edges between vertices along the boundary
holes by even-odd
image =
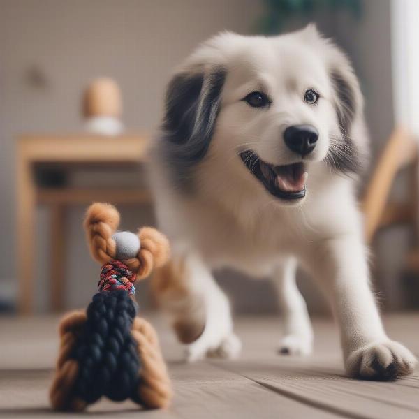
[[[362,14],[362,0],[264,0],[266,13],[258,22],[258,30],[277,34],[284,23],[295,17],[308,19],[321,11],[349,10],[354,17]]]

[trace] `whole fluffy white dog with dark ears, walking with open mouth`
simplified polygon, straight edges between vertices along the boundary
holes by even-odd
[[[219,34],[179,68],[152,152],[172,260],[152,284],[189,360],[240,352],[211,273],[224,266],[272,278],[285,317],[280,351],[309,354],[298,262],[332,304],[348,374],[413,371],[369,288],[354,191],[367,154],[362,108],[351,64],[313,25],[272,38]]]

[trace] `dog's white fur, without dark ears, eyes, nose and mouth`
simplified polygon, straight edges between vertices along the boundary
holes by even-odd
[[[159,158],[152,164],[159,224],[172,242],[174,258],[196,255],[189,258],[196,281],[191,286],[205,301],[207,323],[189,346],[189,359],[217,351],[234,356],[240,350],[228,301],[210,273],[224,266],[272,277],[285,318],[281,348],[296,355],[311,353],[309,316],[295,285],[296,258],[332,304],[349,374],[374,377],[365,364],[372,362],[372,353],[378,353],[383,367],[395,362],[399,375],[411,372],[415,358],[385,335],[369,289],[354,180],[324,161],[331,138],[339,135],[336,106],[341,104],[329,73],[334,66],[355,86],[351,137],[359,152],[367,149],[362,97],[346,57],[311,26],[274,38],[225,33],[201,45],[179,71],[207,72],[219,65],[227,69],[221,111],[210,149],[194,169],[196,191],[185,196],[172,186]],[[302,101],[308,88],[321,93],[316,106]],[[241,101],[260,89],[273,98],[269,110]],[[238,157],[240,147],[249,147],[269,163],[294,163],[297,157],[282,140],[292,124],[314,125],[320,134],[307,161],[307,196],[298,203],[267,193]]]

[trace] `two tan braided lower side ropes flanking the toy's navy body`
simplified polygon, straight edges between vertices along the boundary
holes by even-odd
[[[73,395],[78,377],[78,362],[70,358],[86,319],[83,311],[73,311],[62,319],[59,326],[59,357],[50,388],[52,408],[58,411],[82,411],[87,407],[84,400]],[[147,321],[136,317],[131,333],[138,344],[138,356],[141,360],[138,372],[142,378],[138,386],[140,399],[150,409],[166,407],[172,399],[172,386],[156,332]]]

